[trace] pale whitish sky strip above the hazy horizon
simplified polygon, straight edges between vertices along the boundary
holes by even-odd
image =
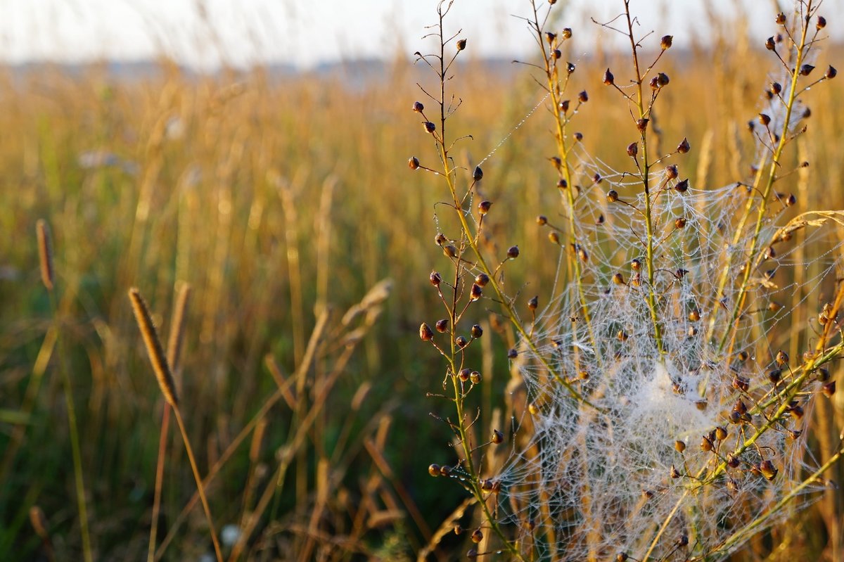
[[[538,0],[542,6],[545,3]],[[790,0],[779,0],[791,6]],[[249,66],[319,62],[359,57],[406,57],[422,49],[425,25],[436,18],[437,0],[0,0],[0,61],[150,59],[164,53],[198,68],[220,62]],[[562,26],[575,30],[584,51],[601,33],[588,15],[610,19],[621,0],[560,0]],[[643,30],[656,36],[705,36],[709,5],[724,18],[744,10],[750,33],[772,35],[776,0],[633,0]],[[844,0],[825,0],[821,14],[840,39]],[[462,28],[474,53],[514,57],[534,48],[525,25],[527,0],[455,0],[451,29]],[[558,9],[558,8],[555,8]],[[605,32],[604,32],[605,33]],[[686,41],[687,42],[687,41]],[[577,43],[576,43],[577,45]],[[424,49],[422,49],[424,50]]]

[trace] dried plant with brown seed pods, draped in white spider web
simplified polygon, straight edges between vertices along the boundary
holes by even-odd
[[[689,141],[658,153],[649,126],[670,88],[659,62],[672,37],[651,45],[650,34],[637,35],[628,0],[600,24],[625,35],[632,62],[595,77],[617,90],[631,116],[629,165],[612,170],[573,128],[588,95],[572,94],[576,67],[562,55],[571,29],[546,29],[554,4],[532,1],[524,18],[542,47],[530,66],[542,74],[554,125],[561,204],[537,219],[560,246],[550,295],[525,299],[506,285],[519,249],[495,250],[509,244],[488,240],[497,209],[479,197],[484,173],[475,168],[463,181],[452,159],[462,138],[446,134],[459,106],[446,86],[467,42],[444,32],[451,3],[441,3],[432,28],[438,51],[416,53],[439,80],[439,91],[420,86],[427,101],[413,105],[439,161],[429,167],[413,157],[408,166],[444,180],[438,214],[446,207],[456,219],[454,232],[436,236],[452,271],[430,274],[446,317],[423,323],[419,337],[446,361],[446,392],[432,396],[453,405],[436,418],[453,431],[457,458],[429,472],[457,480],[479,506],[479,524],[466,531],[470,556],[722,559],[816,497],[826,485],[821,474],[844,453],[839,446],[815,460],[806,447],[813,401],[835,392],[830,366],[844,349],[842,242],[829,228],[844,224],[844,213],[795,216],[785,192],[800,176],[790,175],[785,154],[806,132],[802,96],[836,76],[810,64],[826,22],[811,0],[777,14],[777,34],[766,42],[775,70],[764,109],[749,123],[753,174],[698,189],[684,175]],[[825,249],[798,282],[791,272],[805,265],[808,246]],[[814,310],[800,300],[795,315],[782,303],[798,291],[825,302]],[[473,391],[483,375],[467,350],[483,336],[476,322],[487,310],[518,336],[507,356],[521,382],[511,388],[521,390],[508,397],[511,426],[478,438]],[[816,322],[791,325],[807,316]],[[801,356],[782,350],[790,342],[775,335],[783,333],[799,338]]]

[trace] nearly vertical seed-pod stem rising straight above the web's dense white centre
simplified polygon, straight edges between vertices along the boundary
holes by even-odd
[[[627,18],[627,32],[630,39],[630,48],[633,54],[633,68],[636,71],[636,111],[639,119],[647,118],[650,108],[645,107],[645,100],[642,95],[641,86],[645,77],[639,68],[639,53],[636,38],[633,35],[633,20],[630,18],[630,0],[625,0],[625,16]],[[646,248],[645,263],[647,266],[647,307],[651,311],[653,322],[653,338],[657,343],[657,351],[663,354],[663,328],[657,315],[657,296],[653,290],[653,277],[656,268],[653,264],[653,217],[651,201],[651,162],[647,154],[647,127],[641,131],[641,184],[645,191],[645,224],[646,224]]]

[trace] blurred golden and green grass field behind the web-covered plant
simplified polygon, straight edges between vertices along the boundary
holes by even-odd
[[[840,54],[826,46],[815,64],[825,68]],[[670,55],[663,71],[671,87],[656,123],[663,149],[689,138],[693,169],[681,174],[698,187],[748,176],[754,144],[745,123],[758,111],[770,57],[730,26]],[[631,131],[629,115],[600,82],[608,66],[626,79],[626,63],[614,57],[581,59],[571,91],[589,92],[576,121],[584,143],[622,166],[630,134],[619,131]],[[442,413],[441,404],[425,397],[437,392],[442,366],[416,336],[419,322],[436,319],[428,274],[446,264],[432,220],[443,186],[407,168],[414,154],[436,167],[410,111],[414,100],[427,101],[415,83],[430,78],[403,60],[298,75],[197,76],[168,62],[133,79],[96,65],[0,71],[0,557],[81,556],[60,365],[73,382],[95,559],[145,557],[163,400],[126,291],[142,290],[166,334],[174,287],[187,282],[181,408],[203,473],[273,395],[278,376],[302,364],[317,319],[331,311],[301,386],[270,408],[262,439],[252,451],[245,440],[209,488],[218,528],[238,526],[273,487],[279,451],[326,390],[249,556],[415,558],[463,500],[456,485],[427,475],[430,462],[453,459],[448,431],[429,415]],[[541,99],[529,72],[480,58],[458,68],[454,86],[463,104],[452,133],[473,135],[467,167]],[[795,145],[801,154],[790,153],[792,164],[811,164],[799,208],[844,208],[842,94],[833,80],[808,96],[809,132]],[[534,218],[559,213],[553,169],[544,165],[552,148],[543,113],[484,164],[483,185],[506,212],[496,240],[519,245],[529,264],[522,280],[539,288],[557,261]],[[55,325],[39,278],[37,219],[54,237]],[[343,363],[356,343],[344,339],[351,328],[343,332],[343,313],[384,278],[392,292],[381,316],[365,323]],[[506,346],[486,355],[484,427],[508,378]],[[276,378],[268,365],[278,367]],[[328,384],[335,365],[342,375]],[[820,454],[844,422],[841,394],[814,412]],[[181,440],[171,437],[160,538],[195,489]],[[830,474],[842,477],[841,467]],[[34,505],[49,540],[32,526]],[[844,554],[841,513],[841,493],[830,493],[793,529],[734,558],[831,560]],[[198,508],[175,534],[163,559],[210,552]],[[463,550],[446,538],[432,556]]]

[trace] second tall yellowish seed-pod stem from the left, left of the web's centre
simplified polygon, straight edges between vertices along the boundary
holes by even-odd
[[[543,43],[543,26],[539,24],[539,13],[536,7],[536,2],[532,2],[533,4],[533,30],[536,32],[537,41],[540,47],[544,45]],[[540,49],[542,51],[542,57],[544,61],[544,70],[545,70],[545,78],[547,79],[548,84],[548,93],[551,97],[551,108],[554,114],[554,122],[555,122],[555,141],[557,143],[557,154],[560,157],[561,169],[563,171],[563,176],[565,179],[565,203],[568,206],[568,219],[569,219],[569,242],[571,244],[571,248],[575,248],[577,246],[577,235],[576,235],[576,220],[575,220],[575,196],[574,196],[574,184],[571,181],[571,165],[569,164],[569,148],[565,146],[565,126],[568,124],[568,118],[564,117],[560,114],[560,97],[563,94],[563,91],[560,91],[560,80],[559,75],[557,73],[557,67],[555,62],[552,62],[551,57],[549,57],[549,52],[547,49]],[[568,80],[566,80],[566,84],[568,84]],[[566,254],[567,259],[569,261],[569,267],[574,270],[574,278],[577,284],[577,296],[580,299],[581,305],[581,313],[583,315],[583,321],[586,322],[587,330],[589,332],[589,340],[592,343],[592,349],[598,349],[598,345],[595,340],[595,333],[592,330],[592,317],[589,314],[589,305],[587,304],[586,300],[586,292],[583,289],[583,271],[581,267],[580,260],[576,256],[576,251],[567,252]]]

